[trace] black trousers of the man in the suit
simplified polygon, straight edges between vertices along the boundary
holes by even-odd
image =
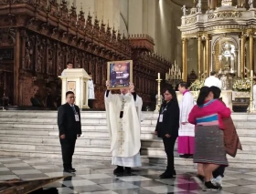
[[[72,156],[75,151],[76,138],[59,139],[62,152],[63,168],[72,168]]]

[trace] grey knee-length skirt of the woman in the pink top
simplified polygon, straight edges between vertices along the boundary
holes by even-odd
[[[219,126],[196,126],[194,163],[228,166],[223,130]]]

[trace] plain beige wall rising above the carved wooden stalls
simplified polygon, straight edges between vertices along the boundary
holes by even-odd
[[[170,0],[76,0],[78,12],[80,3],[85,17],[90,10],[93,19],[97,15],[125,36],[152,36],[157,54],[182,65],[181,34],[177,29],[181,25],[181,6]],[[187,73],[192,69],[197,71],[197,42],[196,45],[193,43],[193,40],[189,41],[187,47]]]

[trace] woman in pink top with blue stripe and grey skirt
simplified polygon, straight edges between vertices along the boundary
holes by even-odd
[[[192,108],[188,122],[196,125],[194,163],[203,164],[205,188],[220,189],[211,183],[212,172],[219,165],[228,166],[223,141],[222,118],[230,117],[231,111],[218,99],[214,99],[209,87],[202,87],[197,105]],[[202,176],[198,176],[202,179]]]

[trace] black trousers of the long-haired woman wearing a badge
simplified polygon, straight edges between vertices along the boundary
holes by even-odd
[[[165,153],[167,155],[167,171],[170,170],[170,173],[175,169],[175,157],[174,157],[174,148],[176,144],[177,137],[163,138],[165,145]]]

